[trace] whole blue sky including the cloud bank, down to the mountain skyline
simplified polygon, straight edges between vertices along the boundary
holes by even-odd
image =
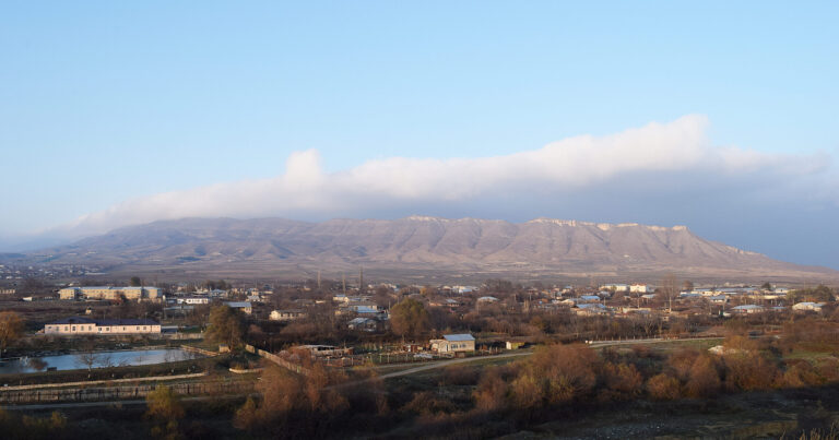
[[[186,216],[686,225],[839,269],[839,3],[0,3],[0,251]]]

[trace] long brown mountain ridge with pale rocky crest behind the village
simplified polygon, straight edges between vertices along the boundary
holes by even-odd
[[[28,261],[128,267],[311,267],[557,272],[586,276],[697,273],[836,278],[839,272],[773,260],[688,227],[534,218],[522,223],[412,215],[398,219],[187,217],[127,226],[29,252]]]

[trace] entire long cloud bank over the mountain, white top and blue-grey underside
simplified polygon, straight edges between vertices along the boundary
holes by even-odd
[[[687,224],[704,233],[716,231],[710,234],[712,238],[748,248],[748,238],[745,242],[732,238],[746,230],[771,229],[769,217],[784,217],[779,211],[837,213],[839,186],[829,154],[772,154],[714,145],[708,130],[706,117],[688,115],[611,135],[568,138],[504,156],[388,157],[334,173],[323,170],[316,150],[299,151],[274,178],[127,200],[47,235],[82,237],[182,217],[326,219],[430,214],[521,221],[552,216]],[[728,223],[709,221],[716,216]],[[753,218],[756,225],[746,225],[743,217]]]

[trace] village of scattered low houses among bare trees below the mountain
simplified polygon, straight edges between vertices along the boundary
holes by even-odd
[[[29,296],[4,288],[0,298],[37,306],[37,314],[21,309],[27,329],[36,329],[32,336],[180,337],[203,333],[211,309],[224,306],[247,323],[243,337],[265,349],[320,347],[312,354],[340,358],[377,346],[379,353],[388,347],[387,355],[422,352],[417,360],[497,353],[544,342],[551,333],[563,333],[565,342],[700,336],[731,317],[820,316],[836,308],[826,287],[694,286],[672,275],[660,286],[522,286],[504,280],[428,286],[364,283],[363,276],[355,285],[310,280],[259,287],[224,281],[157,287],[133,278],[126,283],[131,286],[69,283]],[[417,322],[403,322],[397,307],[409,301],[421,310],[409,317]]]

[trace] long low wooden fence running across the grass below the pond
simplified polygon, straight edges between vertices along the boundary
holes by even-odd
[[[120,387],[70,388],[60,390],[0,391],[0,403],[24,404],[138,400],[145,399],[150,392],[154,391],[155,387],[157,385],[135,384]],[[253,382],[243,380],[231,382],[173,383],[167,387],[169,387],[176,394],[180,395],[244,394],[253,392]]]

